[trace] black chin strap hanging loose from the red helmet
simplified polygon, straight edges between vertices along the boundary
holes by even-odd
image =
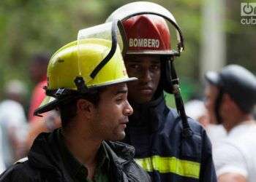
[[[187,114],[185,112],[184,103],[181,98],[181,90],[178,85],[178,76],[176,74],[176,70],[173,64],[173,57],[170,57],[170,60],[168,60],[167,65],[169,66],[170,78],[173,84],[173,94],[176,102],[176,108],[177,108],[178,114],[181,116],[182,127],[183,127],[182,135],[183,137],[187,138],[192,136],[192,130],[189,126],[189,123],[187,122]]]

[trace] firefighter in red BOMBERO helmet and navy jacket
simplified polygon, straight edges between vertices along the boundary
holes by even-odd
[[[153,181],[217,181],[206,131],[186,116],[174,59],[184,38],[173,15],[151,2],[116,9],[107,21],[119,19],[127,39],[124,62],[129,76],[129,116],[125,143],[135,146],[135,159]],[[177,31],[178,50],[171,47],[170,29]],[[175,96],[177,111],[165,104],[163,91]]]

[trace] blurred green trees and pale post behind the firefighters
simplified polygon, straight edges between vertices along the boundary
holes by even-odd
[[[104,23],[123,0],[1,0],[0,85],[18,79],[26,87],[25,110],[34,82],[29,65],[34,54],[52,55],[76,39],[78,30]],[[241,23],[240,1],[153,1],[170,10],[185,37],[185,50],[176,59],[184,100],[202,94],[203,74],[236,63],[256,71],[256,25]],[[175,46],[175,45],[173,45]],[[0,90],[3,98],[4,90]],[[173,106],[172,97],[167,102]]]

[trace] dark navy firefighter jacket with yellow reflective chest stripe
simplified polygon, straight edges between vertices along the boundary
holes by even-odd
[[[163,96],[132,107],[124,142],[135,146],[135,161],[152,181],[217,181],[211,142],[198,122],[188,118],[192,136],[184,138],[181,118]]]

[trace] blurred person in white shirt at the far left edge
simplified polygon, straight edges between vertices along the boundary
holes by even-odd
[[[0,126],[4,164],[8,167],[25,154],[26,114],[21,103],[27,90],[23,82],[11,80],[4,86],[5,99],[0,103]]]

